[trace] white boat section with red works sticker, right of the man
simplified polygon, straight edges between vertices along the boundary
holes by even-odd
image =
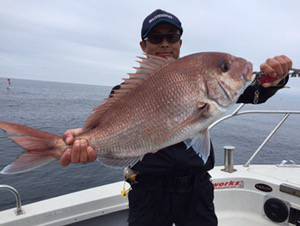
[[[278,225],[272,222],[264,212],[264,204],[271,198],[282,200],[289,208],[300,210],[300,196],[280,191],[282,185],[300,191],[299,165],[290,167],[237,166],[235,167],[237,171],[234,173],[226,173],[221,170],[222,168],[216,167],[211,171],[215,184],[215,207],[220,226]],[[230,186],[230,182],[235,185]],[[267,185],[272,191],[258,190],[256,188],[258,184]],[[289,225],[287,222],[288,220],[284,222],[284,225]]]

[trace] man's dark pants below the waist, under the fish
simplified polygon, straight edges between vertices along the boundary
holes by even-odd
[[[129,226],[217,226],[208,173],[143,178],[129,192]]]

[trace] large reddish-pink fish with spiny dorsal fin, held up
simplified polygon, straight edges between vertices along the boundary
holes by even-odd
[[[132,164],[181,141],[205,159],[208,126],[237,101],[251,80],[251,63],[226,53],[197,53],[178,60],[147,56],[94,110],[76,138],[88,140],[98,159],[112,166]],[[3,174],[44,165],[67,147],[62,137],[23,125],[0,122],[0,129],[26,150]]]

